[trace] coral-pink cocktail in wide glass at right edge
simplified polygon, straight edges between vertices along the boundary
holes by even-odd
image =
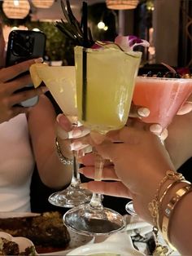
[[[167,77],[137,77],[133,103],[150,109],[147,123],[168,127],[181,105],[192,93],[192,79]]]

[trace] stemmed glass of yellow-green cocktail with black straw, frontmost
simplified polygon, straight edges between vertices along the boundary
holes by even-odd
[[[141,52],[124,52],[116,47],[75,47],[78,118],[84,126],[106,134],[125,125],[141,56]],[[96,152],[96,180],[101,180],[102,171],[103,158]],[[88,205],[68,210],[63,222],[88,236],[110,235],[125,225],[123,216],[103,207],[98,193],[93,193]]]

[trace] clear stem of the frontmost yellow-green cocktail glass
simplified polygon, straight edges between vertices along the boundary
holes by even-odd
[[[95,152],[95,163],[94,163],[94,180],[100,181],[102,179],[104,160],[98,152]],[[89,202],[89,207],[94,210],[103,210],[102,195],[98,193],[93,193],[91,201]]]

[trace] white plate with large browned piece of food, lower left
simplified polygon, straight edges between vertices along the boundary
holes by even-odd
[[[63,225],[63,214],[58,211],[43,214],[1,213],[0,232],[23,236],[33,242],[37,254],[64,255],[71,249],[93,240],[78,235]]]

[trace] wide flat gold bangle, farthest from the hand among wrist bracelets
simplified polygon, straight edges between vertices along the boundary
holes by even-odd
[[[192,190],[191,183],[185,182],[187,185],[184,188],[179,188],[175,193],[175,196],[172,196],[172,199],[168,202],[164,210],[164,217],[162,221],[162,235],[164,236],[164,241],[170,246],[170,248],[175,249],[169,241],[169,223],[170,218],[172,217],[173,210],[175,209],[177,203]]]

